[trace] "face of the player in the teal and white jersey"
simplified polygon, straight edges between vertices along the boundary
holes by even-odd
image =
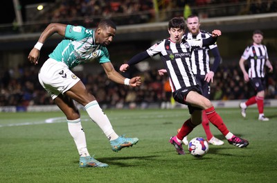
[[[96,30],[96,43],[101,44],[102,46],[108,46],[112,42],[115,35],[116,29],[114,28],[98,28]]]

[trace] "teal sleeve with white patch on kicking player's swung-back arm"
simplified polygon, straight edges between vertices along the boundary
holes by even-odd
[[[83,26],[67,25],[65,30],[65,37],[70,40],[82,40],[89,36],[89,32]]]

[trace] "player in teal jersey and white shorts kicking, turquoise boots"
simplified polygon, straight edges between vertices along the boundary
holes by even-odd
[[[48,37],[54,33],[62,35],[64,40],[57,45],[53,53],[49,55],[48,60],[44,62],[39,71],[39,82],[66,115],[69,132],[80,155],[79,166],[107,167],[107,164],[98,162],[89,155],[82,130],[80,112],[74,101],[84,106],[91,120],[105,133],[112,150],[117,152],[121,148],[132,146],[139,139],[125,138],[116,134],[96,98],[87,91],[80,78],[75,76],[71,69],[85,62],[99,62],[110,80],[131,87],[141,85],[141,77],[124,78],[111,64],[106,46],[111,43],[116,34],[116,25],[109,19],[100,21],[96,30],[82,26],[49,24],[28,55],[28,60],[31,63],[38,63],[40,49]]]

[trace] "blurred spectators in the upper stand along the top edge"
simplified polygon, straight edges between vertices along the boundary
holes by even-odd
[[[232,13],[233,15],[251,15],[277,12],[277,2],[270,0],[157,0],[158,10],[161,13],[159,20],[166,21],[171,17],[183,15],[186,5],[190,6],[192,12],[196,14],[204,11],[204,17],[221,17],[232,15]],[[235,11],[231,10],[232,6]],[[213,10],[208,10],[209,7]],[[117,25],[148,23],[157,20],[155,13],[152,0],[61,0],[56,2],[53,9],[51,8],[42,17],[37,18],[39,21],[44,19],[46,22],[82,24],[91,27],[96,26],[96,22],[102,17],[113,19]]]

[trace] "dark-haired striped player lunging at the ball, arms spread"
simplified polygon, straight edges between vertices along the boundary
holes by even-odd
[[[120,66],[120,71],[126,71],[129,66],[150,58],[154,55],[160,55],[161,60],[167,70],[170,78],[170,87],[175,101],[188,105],[190,119],[186,120],[181,130],[175,137],[170,138],[179,155],[185,155],[182,147],[182,139],[193,131],[197,125],[202,123],[202,110],[206,112],[208,120],[215,125],[226,137],[230,144],[239,148],[249,145],[247,140],[241,139],[231,133],[224,124],[222,118],[208,98],[202,96],[201,89],[193,74],[190,65],[190,51],[192,47],[202,47],[215,44],[217,36],[221,35],[220,30],[213,30],[212,36],[203,40],[182,39],[185,33],[185,21],[183,17],[174,17],[168,23],[168,39],[161,40],[146,51],[138,53],[131,58],[127,64]]]

